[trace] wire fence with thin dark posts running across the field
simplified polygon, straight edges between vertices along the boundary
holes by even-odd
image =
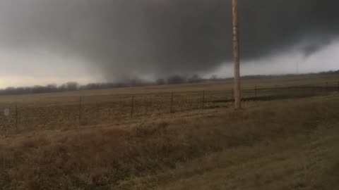
[[[321,96],[339,91],[339,82],[242,90],[242,101]],[[0,133],[119,124],[133,118],[232,106],[233,91],[185,91],[133,95],[55,97],[31,103],[1,103]]]

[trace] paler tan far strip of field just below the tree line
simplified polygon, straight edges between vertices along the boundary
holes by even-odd
[[[242,87],[244,89],[266,88],[276,86],[298,86],[304,84],[318,84],[325,85],[338,84],[338,75],[300,75],[292,77],[274,77],[266,79],[245,79],[242,80]],[[233,88],[232,80],[228,82],[206,82],[198,84],[178,84],[178,85],[164,85],[153,87],[133,87],[120,89],[101,89],[101,90],[87,90],[87,91],[71,91],[66,93],[51,93],[51,94],[33,94],[33,95],[18,95],[18,96],[1,96],[0,103],[18,102],[18,103],[41,103],[46,100],[62,98],[62,101],[74,100],[79,96],[110,96],[115,95],[132,95],[132,94],[159,94],[169,92],[187,92],[187,91],[218,91],[230,90]]]

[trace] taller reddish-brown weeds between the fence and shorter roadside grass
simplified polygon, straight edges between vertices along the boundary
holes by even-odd
[[[108,189],[208,153],[308,132],[338,121],[338,108],[338,99],[283,101],[133,127],[23,134],[0,146],[0,189]]]

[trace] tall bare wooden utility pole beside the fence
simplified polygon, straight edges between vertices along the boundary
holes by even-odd
[[[234,106],[242,108],[242,94],[240,87],[240,56],[239,56],[239,30],[238,30],[238,1],[232,0],[233,13],[233,56],[234,56]]]

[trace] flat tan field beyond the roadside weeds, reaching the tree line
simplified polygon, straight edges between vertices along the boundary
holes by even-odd
[[[337,90],[337,75],[275,77],[273,79],[244,80],[243,95],[247,101],[301,98],[330,94]],[[276,89],[303,84],[324,89]],[[253,90],[257,88],[260,91]],[[171,112],[171,93],[174,92],[172,111],[184,112],[202,108],[232,106],[231,82],[165,85],[66,93],[1,96],[0,110],[10,108],[11,115],[0,114],[0,134],[11,135],[41,129],[71,129],[130,122],[131,99],[134,95],[133,118],[163,117]],[[203,90],[205,96],[203,96]],[[81,96],[81,108],[79,108]],[[17,107],[16,107],[17,106]],[[18,108],[16,110],[16,108]],[[18,116],[16,116],[18,113]],[[79,117],[81,115],[81,117]],[[17,119],[16,119],[17,118]],[[80,119],[81,118],[81,119]]]

